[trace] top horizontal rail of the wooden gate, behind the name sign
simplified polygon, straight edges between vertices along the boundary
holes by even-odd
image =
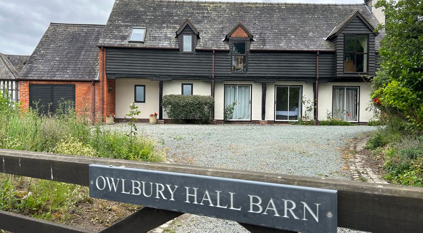
[[[0,149],[0,172],[8,174],[88,186],[90,164],[336,189],[340,227],[373,232],[423,229],[423,188]]]

